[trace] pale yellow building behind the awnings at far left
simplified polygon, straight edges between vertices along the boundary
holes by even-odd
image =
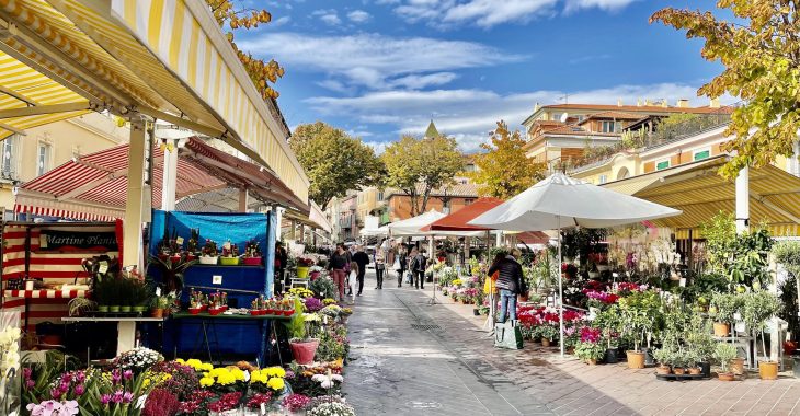
[[[94,153],[129,137],[128,127],[118,127],[112,116],[89,113],[79,117],[28,128],[0,141],[0,207],[12,216],[14,186],[28,182],[72,158]]]

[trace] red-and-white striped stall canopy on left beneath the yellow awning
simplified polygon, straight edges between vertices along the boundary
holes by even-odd
[[[260,169],[190,138],[176,150],[176,197],[226,188],[248,189],[256,200],[279,201],[308,212],[285,184]],[[161,205],[163,153],[153,152],[152,206]],[[123,218],[127,198],[128,146],[123,145],[69,161],[24,184],[16,195],[16,212],[82,220]]]

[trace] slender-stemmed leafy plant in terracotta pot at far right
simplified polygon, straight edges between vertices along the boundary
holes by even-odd
[[[758,361],[758,374],[762,380],[776,380],[778,378],[778,362],[772,360],[767,354],[764,330],[767,326],[767,320],[779,311],[780,301],[775,293],[761,290],[747,293],[744,298],[744,323],[754,336],[761,333],[764,359]]]

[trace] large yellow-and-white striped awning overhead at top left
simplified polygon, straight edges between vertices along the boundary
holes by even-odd
[[[0,137],[89,108],[140,112],[226,141],[308,200],[276,108],[206,2],[0,0]]]

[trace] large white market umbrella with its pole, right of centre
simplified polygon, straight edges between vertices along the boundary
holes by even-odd
[[[558,230],[561,268],[561,228],[606,228],[681,215],[663,205],[619,194],[556,173],[468,223],[495,230]],[[558,279],[561,355],[564,354],[563,286]]]

